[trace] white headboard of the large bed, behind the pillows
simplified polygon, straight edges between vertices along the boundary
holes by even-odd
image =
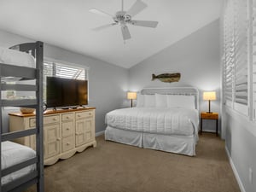
[[[192,86],[178,86],[178,87],[157,87],[144,88],[141,90],[143,95],[166,94],[166,95],[180,95],[180,96],[195,96],[195,108],[199,110],[199,90]]]

